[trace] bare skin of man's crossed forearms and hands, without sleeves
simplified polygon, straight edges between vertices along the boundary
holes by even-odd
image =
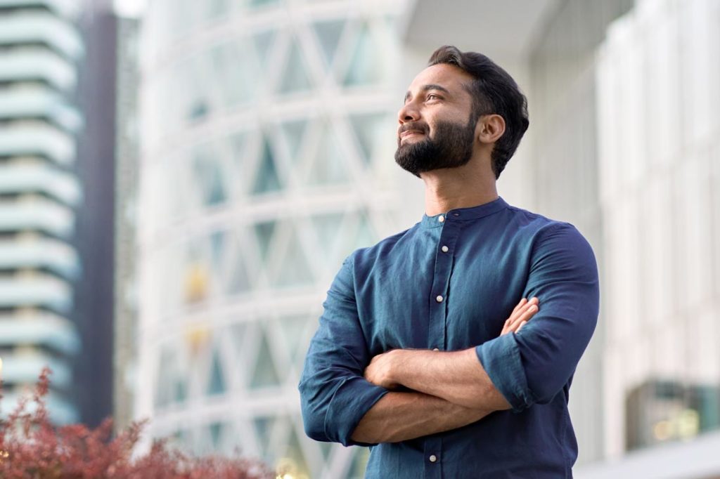
[[[538,299],[523,298],[505,321],[503,334],[518,332],[538,311]],[[363,416],[352,439],[399,442],[480,421],[510,403],[492,384],[474,348],[455,352],[391,350],[375,356],[365,378],[390,392]]]

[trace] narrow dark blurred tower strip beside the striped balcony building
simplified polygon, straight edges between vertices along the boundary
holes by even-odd
[[[78,64],[76,104],[85,124],[75,165],[84,194],[74,239],[83,265],[74,291],[74,319],[83,347],[74,364],[73,386],[80,420],[97,426],[113,412],[117,19],[110,0],[78,3],[85,54]]]

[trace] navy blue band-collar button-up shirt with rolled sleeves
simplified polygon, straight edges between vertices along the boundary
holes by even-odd
[[[516,304],[533,296],[533,319],[500,336]],[[353,252],[333,280],[300,380],[305,431],[358,444],[354,429],[387,393],[363,377],[375,355],[475,347],[512,409],[449,432],[360,444],[372,446],[366,478],[570,478],[568,393],[598,302],[595,256],[572,224],[500,197],[424,215]]]

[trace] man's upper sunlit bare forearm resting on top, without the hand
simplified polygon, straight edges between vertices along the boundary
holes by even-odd
[[[393,380],[413,391],[470,409],[500,411],[510,404],[492,384],[474,348],[455,352],[397,350]]]

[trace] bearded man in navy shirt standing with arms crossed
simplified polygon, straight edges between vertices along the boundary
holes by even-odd
[[[598,319],[593,250],[498,196],[528,127],[508,73],[448,46],[428,65],[395,153],[424,181],[426,214],[356,250],[330,286],[300,380],[305,430],[370,446],[368,478],[570,478],[568,393]]]

